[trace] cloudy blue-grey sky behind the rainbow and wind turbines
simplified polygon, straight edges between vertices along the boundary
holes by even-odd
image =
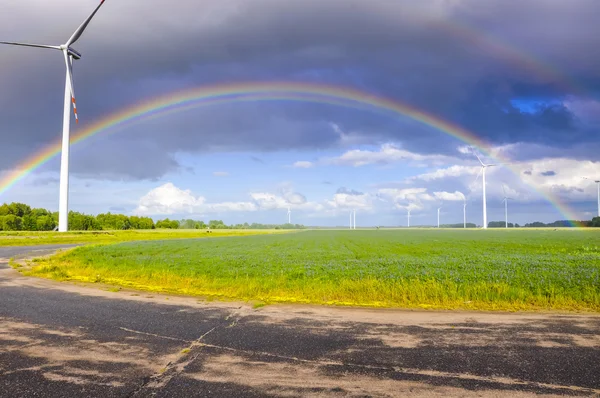
[[[0,40],[58,45],[96,0],[0,2]],[[345,226],[579,220],[600,179],[597,0],[106,0],[73,47],[80,123],[241,83],[335,86],[403,103],[485,142],[377,107],[224,101],[72,145],[71,210]],[[59,142],[58,51],[0,45],[0,180]],[[74,119],[73,119],[74,121]],[[487,152],[487,153],[486,153]],[[53,158],[0,202],[58,209]],[[503,189],[504,187],[504,189]]]

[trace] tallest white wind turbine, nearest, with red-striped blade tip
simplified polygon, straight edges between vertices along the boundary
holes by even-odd
[[[65,103],[63,111],[63,134],[62,134],[62,151],[60,158],[60,194],[58,205],[58,231],[66,232],[69,229],[69,129],[71,122],[71,104],[73,104],[73,113],[75,114],[75,122],[79,122],[77,118],[77,105],[75,104],[75,91],[73,87],[73,59],[78,60],[81,54],[75,51],[71,45],[75,44],[83,34],[85,28],[96,15],[105,0],[101,0],[100,4],[94,12],[77,28],[73,35],[65,44],[59,46],[49,46],[45,44],[29,44],[15,43],[8,41],[0,41],[0,44],[10,44],[14,46],[49,48],[59,50],[63,53],[66,67],[65,78]]]

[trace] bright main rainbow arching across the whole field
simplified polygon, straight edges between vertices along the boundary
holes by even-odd
[[[315,102],[400,115],[419,121],[468,145],[476,147],[496,161],[507,163],[507,159],[491,154],[489,146],[472,132],[411,105],[353,88],[301,82],[228,83],[170,93],[136,104],[120,112],[115,112],[90,124],[83,130],[73,134],[71,136],[71,143],[82,142],[108,130],[113,132],[120,131],[134,123],[201,106],[266,100]],[[8,173],[0,180],[0,195],[4,194],[32,171],[58,155],[60,151],[61,143],[56,142],[19,164],[14,171]],[[511,168],[511,166],[507,167]],[[518,175],[518,171],[511,170]],[[535,187],[533,188],[536,189]],[[557,198],[554,198],[551,194],[537,191],[566,219],[576,219],[571,210]]]

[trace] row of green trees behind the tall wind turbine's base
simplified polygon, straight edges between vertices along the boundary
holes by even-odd
[[[24,203],[4,203],[0,206],[0,231],[52,231],[58,226],[58,212],[31,208]],[[157,220],[150,217],[102,213],[96,216],[76,211],[69,212],[69,229],[73,231],[127,230],[127,229],[303,229],[300,224],[244,223],[226,225],[222,220],[204,221]]]

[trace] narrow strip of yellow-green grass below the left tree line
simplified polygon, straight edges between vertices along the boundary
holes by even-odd
[[[127,230],[127,231],[74,231],[74,232],[2,232],[0,231],[1,246],[33,246],[45,244],[69,243],[118,243],[140,240],[166,240],[203,238],[217,236],[246,236],[289,232],[285,230]]]

